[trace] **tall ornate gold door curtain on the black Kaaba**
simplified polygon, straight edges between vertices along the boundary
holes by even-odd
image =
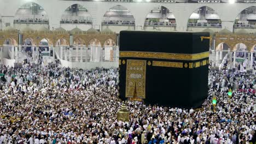
[[[146,66],[146,60],[127,59],[126,98],[146,98]]]

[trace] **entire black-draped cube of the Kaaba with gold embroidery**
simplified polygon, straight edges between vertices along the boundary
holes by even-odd
[[[209,37],[206,32],[121,31],[120,98],[200,106],[208,93]]]

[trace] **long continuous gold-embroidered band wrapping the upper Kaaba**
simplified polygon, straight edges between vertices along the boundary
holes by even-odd
[[[209,55],[210,55],[210,53],[208,51],[201,52],[201,53],[194,53],[194,54],[142,52],[142,51],[120,51],[119,57],[175,59],[175,60],[184,60],[184,61],[195,61],[198,59],[208,58]]]

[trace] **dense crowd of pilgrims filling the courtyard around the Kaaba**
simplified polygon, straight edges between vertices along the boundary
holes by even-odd
[[[210,70],[201,109],[125,101],[117,121],[118,69],[1,69],[0,144],[255,143],[254,75]],[[226,94],[232,88],[229,98]],[[212,97],[217,97],[213,112]],[[174,97],[174,96],[173,96]],[[185,101],[184,101],[185,103]]]

